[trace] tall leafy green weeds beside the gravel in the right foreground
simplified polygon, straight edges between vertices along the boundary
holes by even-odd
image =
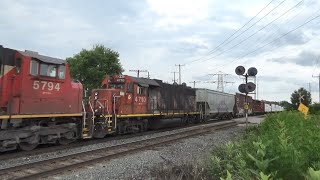
[[[320,169],[319,116],[298,112],[271,114],[237,142],[214,148],[214,179],[304,179],[310,167]]]

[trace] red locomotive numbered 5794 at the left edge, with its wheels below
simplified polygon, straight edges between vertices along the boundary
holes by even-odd
[[[64,60],[0,46],[0,152],[79,137],[82,84]]]

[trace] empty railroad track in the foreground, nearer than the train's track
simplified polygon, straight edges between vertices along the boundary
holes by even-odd
[[[235,121],[205,124],[196,126],[196,128],[194,127],[192,130],[186,128],[184,131],[179,131],[169,135],[19,165],[0,170],[0,179],[48,179],[61,175],[61,173],[65,173],[67,171],[79,170],[96,163],[106,162],[118,157],[152,149],[192,136],[209,133],[214,130],[230,128],[235,125],[237,125]]]

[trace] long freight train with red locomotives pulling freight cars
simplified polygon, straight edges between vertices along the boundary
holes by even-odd
[[[241,94],[128,75],[107,75],[89,98],[83,94],[81,82],[71,79],[64,60],[0,46],[0,152],[170,123],[231,119],[244,112]],[[252,100],[249,112],[262,113],[265,105]]]

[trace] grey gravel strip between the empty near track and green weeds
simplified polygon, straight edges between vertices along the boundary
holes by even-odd
[[[180,166],[202,161],[208,157],[214,145],[224,144],[239,137],[244,129],[244,127],[237,126],[218,130],[165,147],[89,166],[81,171],[69,172],[66,175],[52,177],[52,179],[154,179],[151,171],[155,168],[165,164]]]

